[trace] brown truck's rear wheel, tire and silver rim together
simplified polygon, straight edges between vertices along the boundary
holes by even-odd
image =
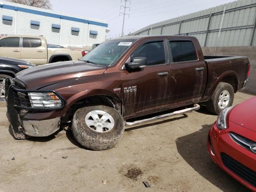
[[[213,114],[219,114],[225,108],[232,106],[233,101],[233,87],[228,83],[220,82],[216,87],[211,100],[207,102],[206,108]]]

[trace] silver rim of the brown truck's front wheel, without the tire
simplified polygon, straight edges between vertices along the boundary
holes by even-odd
[[[110,114],[102,110],[93,110],[85,116],[85,123],[96,132],[108,132],[114,125],[114,119]]]

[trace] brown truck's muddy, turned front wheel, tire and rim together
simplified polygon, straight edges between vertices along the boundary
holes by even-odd
[[[124,133],[124,118],[107,106],[88,106],[76,110],[72,133],[78,143],[90,150],[113,148]]]

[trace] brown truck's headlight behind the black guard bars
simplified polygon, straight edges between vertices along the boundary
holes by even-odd
[[[53,92],[29,92],[28,96],[32,108],[58,108],[63,105]]]

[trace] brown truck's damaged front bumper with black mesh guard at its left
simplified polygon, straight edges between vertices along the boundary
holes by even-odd
[[[6,115],[17,139],[28,138],[27,136],[49,136],[60,128],[60,117],[46,120],[24,118],[24,115],[30,113],[30,111],[26,110],[26,106],[17,106],[18,102],[20,101],[17,101],[15,85],[12,79],[8,78],[6,79]]]

